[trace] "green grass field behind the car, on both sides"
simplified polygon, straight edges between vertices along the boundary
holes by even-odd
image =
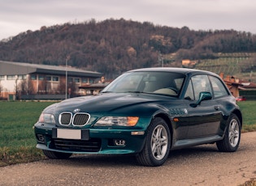
[[[33,125],[50,104],[54,102],[0,102],[0,167],[45,159],[36,148]],[[256,101],[238,104],[244,117],[243,131],[256,130]]]

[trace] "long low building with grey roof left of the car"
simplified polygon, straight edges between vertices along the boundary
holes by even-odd
[[[85,95],[79,87],[98,82],[101,77],[101,73],[70,66],[0,61],[0,98],[15,99],[21,95],[27,98],[33,95],[65,97],[66,93]]]

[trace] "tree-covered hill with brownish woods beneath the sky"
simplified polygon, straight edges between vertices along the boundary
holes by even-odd
[[[228,66],[220,53],[249,53],[235,57],[239,66],[228,73],[255,71],[256,36],[234,30],[193,31],[124,19],[91,19],[42,26],[0,42],[0,60],[56,66],[67,60],[69,66],[102,72],[106,78],[141,67],[181,66],[183,59],[199,61],[197,68]]]

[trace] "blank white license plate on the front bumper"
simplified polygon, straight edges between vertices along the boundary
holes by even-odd
[[[82,133],[79,129],[57,129],[57,138],[81,139]]]

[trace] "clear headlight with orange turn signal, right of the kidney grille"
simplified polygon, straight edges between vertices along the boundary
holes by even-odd
[[[136,116],[106,116],[102,117],[94,126],[135,126],[139,117]]]

